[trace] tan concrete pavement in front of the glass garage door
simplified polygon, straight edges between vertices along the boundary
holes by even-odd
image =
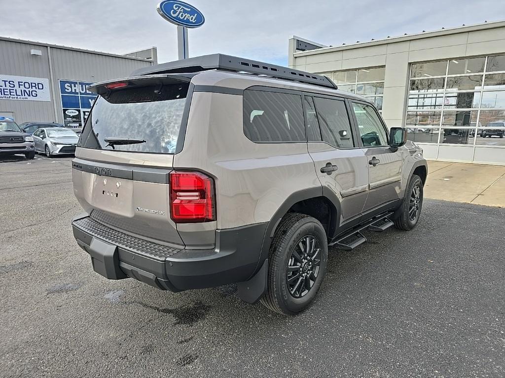
[[[424,197],[505,207],[505,166],[428,161]]]

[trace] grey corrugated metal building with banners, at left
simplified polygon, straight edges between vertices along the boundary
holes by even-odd
[[[95,95],[87,86],[157,64],[156,47],[116,55],[0,37],[0,116],[80,128]]]

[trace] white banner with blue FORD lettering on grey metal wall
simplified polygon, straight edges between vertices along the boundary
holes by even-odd
[[[0,74],[0,100],[51,101],[49,80]]]

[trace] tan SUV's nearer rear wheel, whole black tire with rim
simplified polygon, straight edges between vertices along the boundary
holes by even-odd
[[[261,303],[284,315],[306,309],[321,287],[327,261],[328,240],[321,223],[305,214],[286,214],[270,245],[268,289]]]

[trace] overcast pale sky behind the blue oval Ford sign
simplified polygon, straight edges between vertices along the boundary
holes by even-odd
[[[177,59],[176,26],[158,0],[0,0],[6,37],[118,54],[158,47]],[[326,45],[505,19],[503,0],[186,0],[206,18],[189,30],[190,56],[222,52],[287,65],[288,38]],[[1,52],[0,52],[1,53]]]

